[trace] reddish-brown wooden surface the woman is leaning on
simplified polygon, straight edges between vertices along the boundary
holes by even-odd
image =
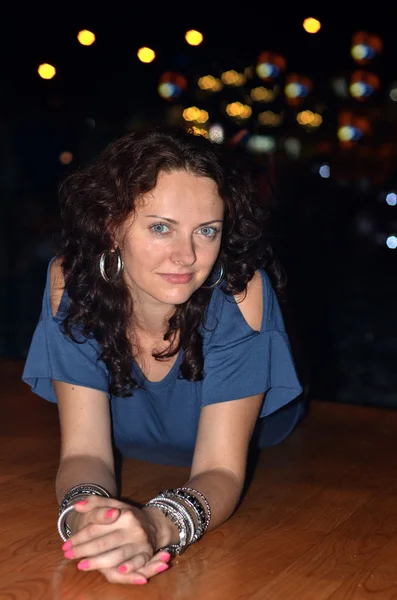
[[[397,598],[397,411],[312,402],[263,451],[235,515],[145,586],[82,573],[61,552],[56,405],[0,364],[1,600],[392,600]],[[144,502],[188,469],[127,460],[123,495]]]

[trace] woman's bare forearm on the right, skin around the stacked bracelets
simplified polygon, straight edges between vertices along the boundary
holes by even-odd
[[[183,487],[199,491],[211,507],[210,531],[225,522],[234,512],[240,500],[243,483],[226,469],[205,471],[189,479]],[[200,497],[197,497],[201,500]],[[204,506],[207,512],[206,507]],[[179,542],[177,527],[156,508],[146,508],[153,515],[157,528],[158,547]]]

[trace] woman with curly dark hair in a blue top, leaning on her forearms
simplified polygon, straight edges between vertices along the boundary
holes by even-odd
[[[232,515],[251,448],[302,416],[268,210],[225,147],[161,128],[69,175],[60,205],[23,380],[58,403],[65,557],[146,583]],[[189,481],[121,502],[115,450]]]

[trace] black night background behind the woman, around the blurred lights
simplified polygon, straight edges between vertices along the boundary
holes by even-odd
[[[209,112],[207,128],[224,127],[225,143],[247,129],[236,151],[249,155],[275,187],[274,246],[288,275],[288,326],[308,390],[321,399],[396,407],[397,249],[386,239],[397,235],[397,206],[385,202],[386,193],[397,191],[397,102],[389,95],[397,82],[395,11],[379,3],[367,14],[349,10],[335,4],[264,9],[254,2],[6,6],[0,33],[1,356],[26,356],[58,227],[60,179],[114,137],[151,122],[183,122],[182,110],[197,105]],[[319,33],[303,30],[307,16],[321,21]],[[91,47],[77,42],[83,28],[96,35]],[[185,42],[191,28],[204,35],[198,47]],[[358,31],[383,45],[365,65],[350,54]],[[137,58],[143,45],[156,51],[151,64]],[[198,77],[255,68],[264,51],[286,61],[274,80],[251,77],[238,90],[200,93]],[[42,62],[57,68],[54,79],[40,79]],[[348,91],[357,71],[379,78],[365,100]],[[158,93],[165,72],[186,78],[177,98]],[[312,86],[297,106],[283,94],[290,74],[309,78]],[[279,90],[261,110],[282,114],[280,125],[260,126],[255,112],[244,122],[227,116],[226,103],[247,101],[255,85]],[[321,114],[316,130],[297,124],[305,109]],[[368,126],[351,144],[337,135],[343,113]],[[274,149],[250,152],[246,142],[256,134],[269,136]],[[291,138],[300,147],[295,156],[286,149]],[[72,153],[69,165],[59,160],[64,151]],[[328,178],[320,176],[322,165],[330,169]]]

